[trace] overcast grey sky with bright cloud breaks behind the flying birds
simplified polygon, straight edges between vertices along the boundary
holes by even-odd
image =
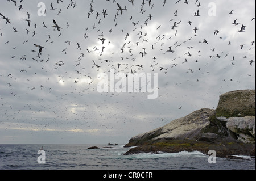
[[[1,2],[1,144],[126,144],[216,108],[225,92],[255,89],[253,0],[62,1]],[[98,74],[110,69],[158,73],[158,98],[98,92]]]

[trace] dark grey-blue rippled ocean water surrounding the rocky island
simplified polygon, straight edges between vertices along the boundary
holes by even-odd
[[[45,163],[38,163],[40,148]],[[123,145],[88,150],[108,145],[12,145],[0,144],[0,170],[255,170],[255,158],[216,158],[198,151],[123,155]],[[41,160],[39,159],[39,162]],[[42,162],[42,161],[41,161]]]

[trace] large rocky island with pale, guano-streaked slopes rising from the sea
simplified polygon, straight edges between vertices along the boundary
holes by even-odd
[[[216,110],[202,108],[163,127],[132,137],[125,153],[215,150],[217,157],[255,157],[255,90],[220,95]]]

